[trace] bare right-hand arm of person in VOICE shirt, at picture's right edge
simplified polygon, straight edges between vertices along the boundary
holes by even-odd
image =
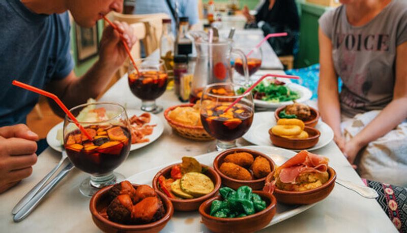
[[[351,163],[363,147],[386,135],[407,118],[407,66],[405,64],[407,64],[407,42],[397,46],[396,79],[392,102],[345,145],[343,152]]]

